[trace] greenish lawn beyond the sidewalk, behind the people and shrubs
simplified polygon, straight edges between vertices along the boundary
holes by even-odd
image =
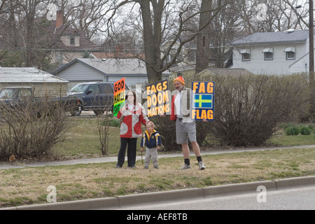
[[[100,143],[96,135],[97,133],[97,119],[90,118],[71,118],[73,126],[68,132],[67,140],[64,143],[56,146],[57,153],[66,158],[95,158],[102,157],[99,150]],[[109,136],[109,156],[118,155],[120,148],[119,128],[110,127]],[[287,136],[281,130],[267,142],[269,146],[301,146],[314,145],[315,134],[311,135],[297,135]],[[140,141],[138,141],[138,153],[140,150]],[[214,146],[215,147],[215,146]],[[207,150],[208,148],[204,148]],[[210,150],[213,148],[209,147]]]

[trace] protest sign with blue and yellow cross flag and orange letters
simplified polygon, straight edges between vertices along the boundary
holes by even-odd
[[[191,118],[214,120],[214,82],[193,82]]]

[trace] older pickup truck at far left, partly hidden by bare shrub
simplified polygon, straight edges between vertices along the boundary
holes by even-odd
[[[45,103],[48,106],[49,113],[57,106],[62,106],[65,112],[74,113],[78,107],[78,99],[75,96],[66,97],[35,97],[32,87],[5,87],[0,91],[0,109],[17,109],[18,106],[27,106],[31,104],[31,108],[39,111],[39,105]],[[48,113],[47,112],[47,113]]]

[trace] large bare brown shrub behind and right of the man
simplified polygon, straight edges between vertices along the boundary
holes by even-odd
[[[192,81],[214,81],[214,121],[197,122],[197,140],[207,134],[227,146],[260,146],[272,137],[281,123],[299,120],[309,111],[308,83],[305,75],[263,76],[253,74],[185,76]],[[173,85],[169,86],[172,92]],[[158,118],[155,122],[163,144],[176,147],[175,125]],[[163,139],[165,138],[165,139]]]

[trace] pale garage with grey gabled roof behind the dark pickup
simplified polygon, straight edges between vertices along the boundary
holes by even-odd
[[[127,85],[148,83],[146,64],[141,59],[75,59],[52,73],[69,80],[69,88],[83,82],[116,82],[126,78]],[[167,78],[169,73],[164,73]]]

